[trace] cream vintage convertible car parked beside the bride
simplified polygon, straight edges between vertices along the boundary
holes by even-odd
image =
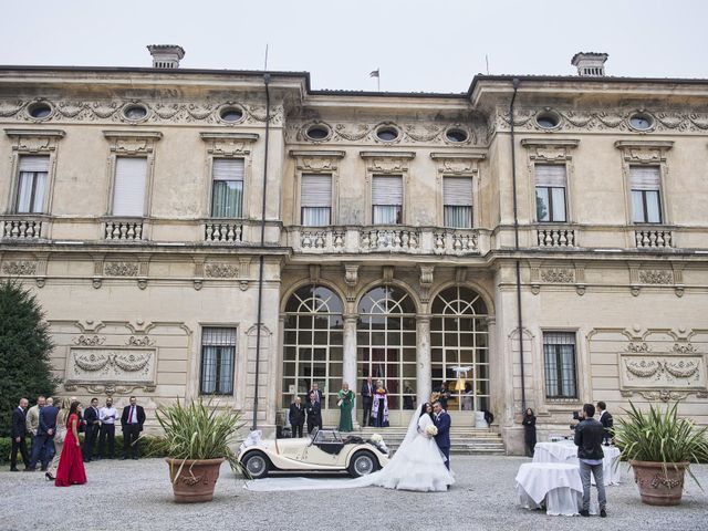
[[[257,435],[254,435],[257,434]],[[270,471],[347,471],[357,478],[388,462],[388,449],[381,437],[363,439],[335,429],[315,429],[310,437],[263,440],[251,433],[241,444],[239,462],[253,479]]]

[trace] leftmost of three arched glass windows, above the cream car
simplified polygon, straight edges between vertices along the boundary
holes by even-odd
[[[285,304],[282,407],[295,395],[304,403],[313,383],[322,391],[322,408],[336,407],[342,330],[342,300],[332,290],[310,284],[291,295]]]

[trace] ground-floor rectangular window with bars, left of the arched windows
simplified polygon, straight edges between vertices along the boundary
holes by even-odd
[[[205,327],[201,332],[202,395],[232,395],[236,329]]]

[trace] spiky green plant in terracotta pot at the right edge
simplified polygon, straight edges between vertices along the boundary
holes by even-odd
[[[626,418],[615,423],[614,439],[622,449],[622,459],[628,460],[644,503],[677,506],[684,491],[684,472],[700,487],[689,468],[708,457],[707,428],[678,417],[678,403],[660,412],[649,406],[642,413],[633,403],[625,410]],[[702,489],[702,487],[701,487]]]

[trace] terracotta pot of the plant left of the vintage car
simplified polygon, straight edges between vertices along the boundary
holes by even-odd
[[[166,457],[165,460],[169,465],[169,479],[177,503],[197,503],[214,499],[219,469],[225,461],[222,457],[219,459],[173,459]],[[180,466],[181,470],[179,470]],[[175,480],[177,472],[179,472],[179,477]]]

